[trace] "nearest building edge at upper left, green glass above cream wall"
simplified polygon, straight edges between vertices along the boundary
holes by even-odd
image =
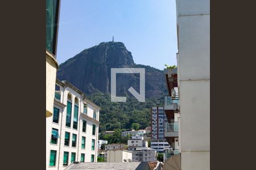
[[[60,0],[46,0],[46,117],[53,114]]]

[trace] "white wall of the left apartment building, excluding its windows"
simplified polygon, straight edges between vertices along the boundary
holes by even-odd
[[[54,107],[60,109],[59,113],[59,123],[56,124],[55,122],[52,122],[53,116],[46,118],[46,169],[65,169],[66,167],[63,166],[63,157],[64,157],[64,151],[69,152],[69,160],[68,165],[71,164],[71,152],[76,153],[76,159],[75,161],[81,160],[81,154],[85,154],[85,162],[91,161],[91,155],[94,155],[94,162],[97,162],[97,145],[98,145],[98,123],[90,120],[90,118],[82,117],[82,111],[83,111],[83,104],[84,100],[82,100],[82,97],[80,94],[78,94],[76,91],[72,90],[70,87],[61,87],[60,86],[60,92],[61,92],[61,99],[60,101],[55,101]],[[71,128],[65,126],[66,123],[66,116],[67,116],[67,98],[68,93],[72,94],[72,116],[71,116]],[[75,97],[79,100],[79,116],[78,116],[78,124],[77,124],[77,130],[73,129],[73,113],[74,113],[74,105],[75,105]],[[93,107],[93,105],[87,103],[88,107],[88,113],[89,117],[93,117],[93,110],[96,109]],[[97,121],[98,121],[98,114],[99,111],[97,109]],[[82,131],[82,121],[86,121],[86,132]],[[96,125],[96,134],[92,135],[92,125]],[[57,145],[51,144],[51,132],[52,128],[59,130],[60,138],[58,138]],[[70,133],[70,139],[69,139],[69,146],[64,146],[65,141],[65,131]],[[72,147],[72,134],[77,135],[77,142],[76,147]],[[85,137],[85,148],[81,148],[81,141],[82,137]],[[92,139],[95,139],[95,149],[92,150]],[[49,167],[49,156],[50,156],[50,150],[57,151],[56,155],[56,166],[55,167]]]

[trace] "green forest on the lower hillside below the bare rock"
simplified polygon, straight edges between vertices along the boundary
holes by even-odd
[[[164,95],[160,99],[146,99],[139,102],[134,97],[127,97],[127,102],[111,102],[110,94],[96,92],[88,99],[101,107],[99,132],[114,129],[130,129],[133,123],[139,124],[139,129],[150,126],[150,108],[157,104],[163,105]],[[134,124],[134,126],[137,126]]]

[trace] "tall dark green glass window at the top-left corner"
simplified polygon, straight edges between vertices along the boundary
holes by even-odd
[[[46,49],[54,55],[56,55],[59,4],[58,0],[46,1]]]

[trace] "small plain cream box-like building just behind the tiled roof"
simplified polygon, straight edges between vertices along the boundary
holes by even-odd
[[[108,163],[129,162],[133,152],[127,150],[108,150]]]

